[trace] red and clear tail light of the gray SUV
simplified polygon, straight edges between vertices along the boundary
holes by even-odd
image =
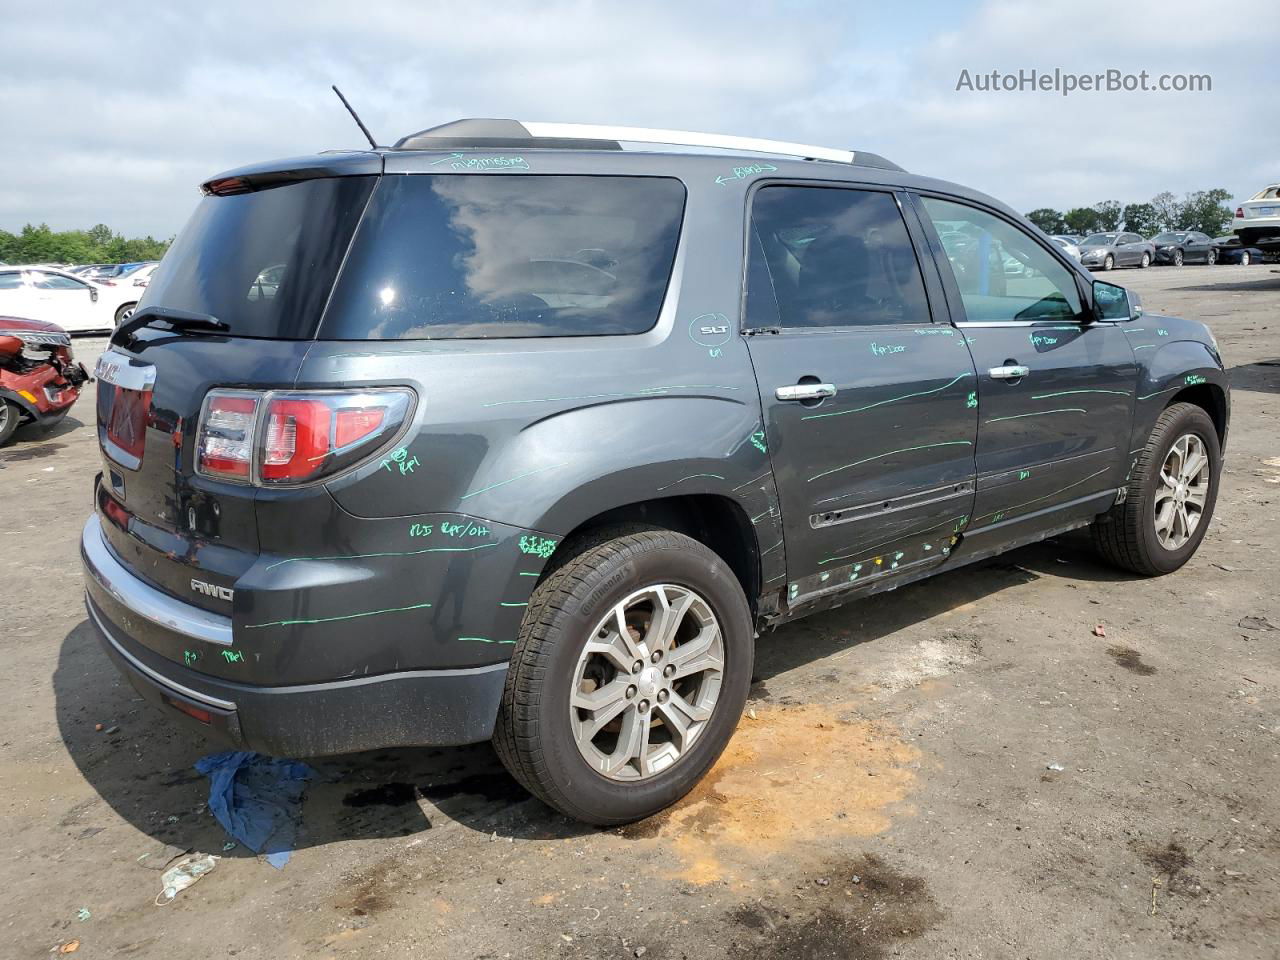
[[[196,472],[257,486],[321,480],[379,453],[412,407],[413,393],[403,388],[210,390]]]

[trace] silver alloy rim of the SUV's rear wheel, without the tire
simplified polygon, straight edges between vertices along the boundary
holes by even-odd
[[[724,637],[705,599],[675,584],[636,590],[579,657],[568,704],[579,753],[616,781],[669,769],[710,722],[723,672]]]

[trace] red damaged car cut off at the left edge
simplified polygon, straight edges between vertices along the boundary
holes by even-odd
[[[87,380],[63,328],[0,316],[0,447],[22,424],[55,426]]]

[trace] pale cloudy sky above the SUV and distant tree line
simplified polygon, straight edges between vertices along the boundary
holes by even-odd
[[[883,154],[1019,210],[1280,180],[1280,4],[483,4],[13,8],[0,228],[166,237],[239,164],[460,116],[616,123]],[[886,9],[891,8],[891,9]],[[960,72],[1210,74],[1211,92],[956,91]]]

